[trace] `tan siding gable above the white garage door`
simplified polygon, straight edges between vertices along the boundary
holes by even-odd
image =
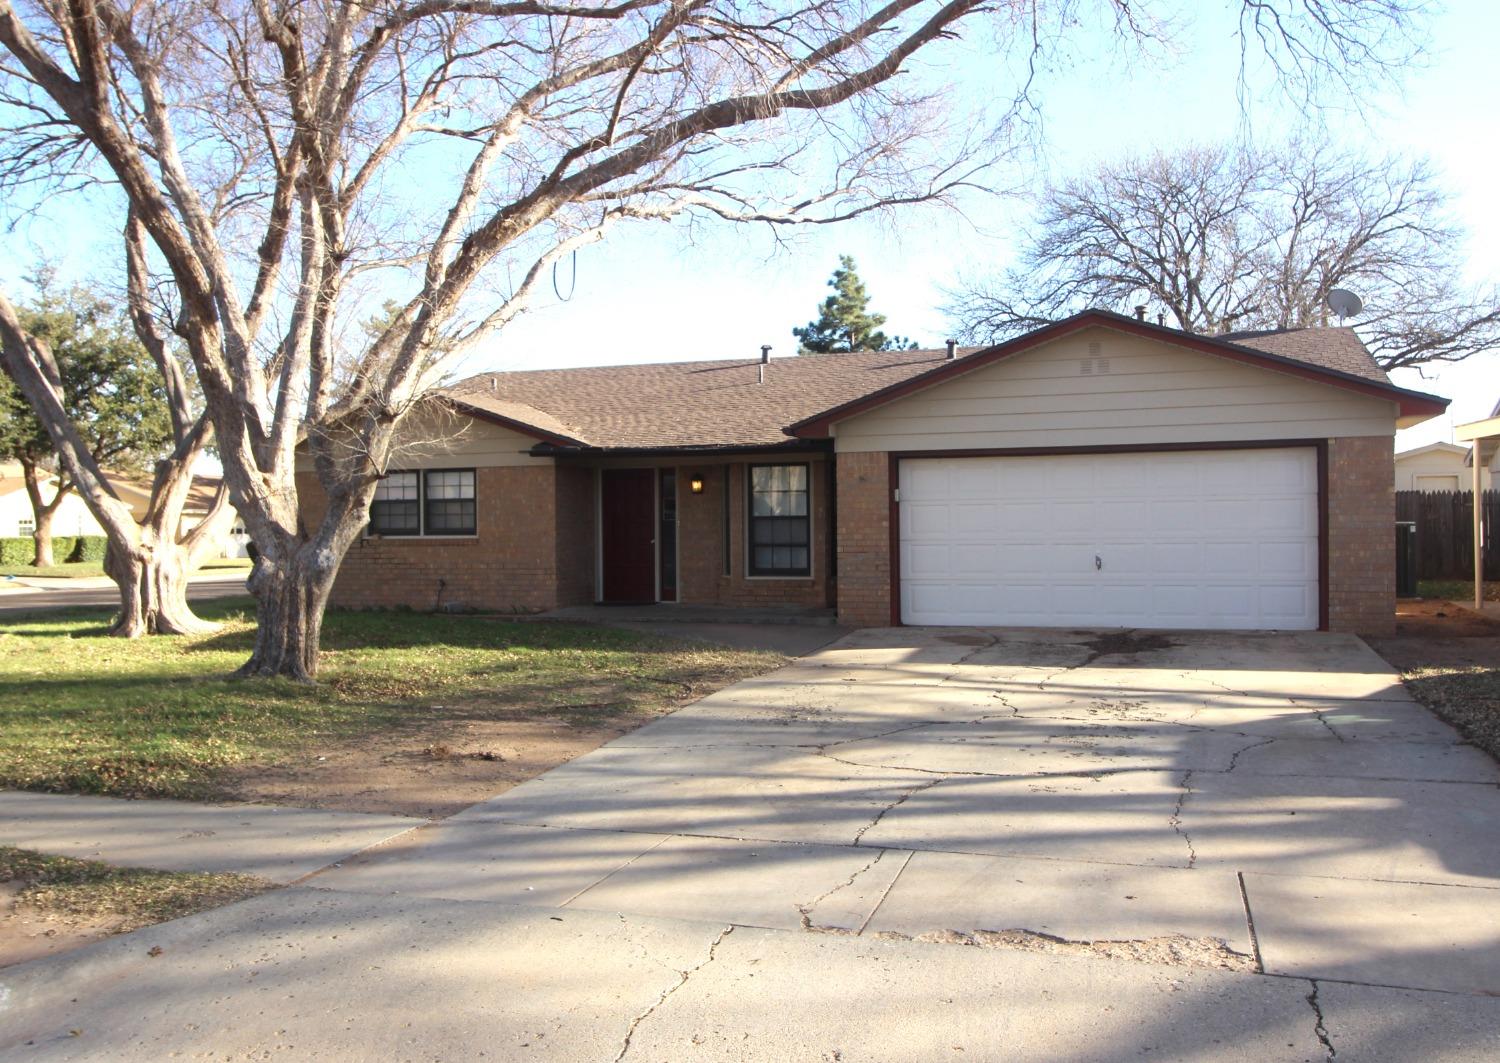
[[[842,451],[1389,436],[1395,403],[1089,328],[838,424]]]

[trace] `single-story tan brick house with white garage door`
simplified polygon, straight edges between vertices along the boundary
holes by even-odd
[[[1347,328],[1096,310],[982,349],[490,373],[444,399],[459,430],[393,463],[334,603],[1389,631],[1392,439],[1448,406]]]

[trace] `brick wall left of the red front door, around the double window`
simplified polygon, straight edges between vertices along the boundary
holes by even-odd
[[[316,477],[298,474],[297,487],[306,520],[316,522],[324,508]],[[476,502],[472,538],[356,540],[339,568],[332,604],[537,612],[592,601],[592,480],[586,471],[480,468]]]

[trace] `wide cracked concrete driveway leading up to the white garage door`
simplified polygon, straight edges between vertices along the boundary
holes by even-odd
[[[225,1048],[188,994],[328,1056],[1492,1060],[1497,828],[1353,637],[860,631],[12,1017],[48,1059],[93,987],[117,1059]]]

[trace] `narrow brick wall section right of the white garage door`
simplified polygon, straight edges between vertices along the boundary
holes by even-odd
[[[1328,627],[1392,634],[1396,612],[1390,436],[1328,441]]]

